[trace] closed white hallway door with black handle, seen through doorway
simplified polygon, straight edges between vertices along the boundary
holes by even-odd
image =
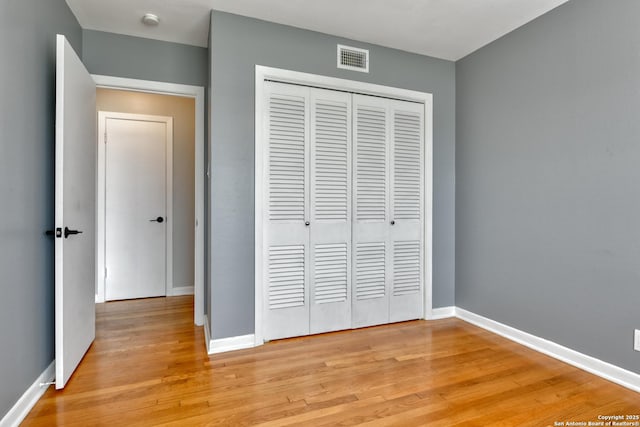
[[[100,114],[105,129],[105,297],[166,295],[172,118]]]

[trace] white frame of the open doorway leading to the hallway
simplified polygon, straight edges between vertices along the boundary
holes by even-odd
[[[204,324],[204,87],[138,80],[122,77],[92,75],[97,88],[154,93],[160,95],[193,98],[195,101],[195,218],[194,218],[194,323]],[[100,244],[100,243],[99,243]],[[104,245],[104,240],[102,242]],[[104,259],[104,258],[103,258]],[[96,269],[96,283],[102,278],[103,286],[96,289],[96,302],[105,301],[104,270]],[[167,281],[169,278],[167,278]],[[171,278],[172,280],[172,278]],[[167,294],[169,295],[169,294]]]

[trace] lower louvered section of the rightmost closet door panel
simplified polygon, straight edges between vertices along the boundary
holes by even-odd
[[[393,244],[393,295],[420,292],[420,242]]]

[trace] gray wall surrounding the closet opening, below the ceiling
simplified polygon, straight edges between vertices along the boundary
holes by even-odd
[[[336,68],[336,44],[370,50],[371,72]],[[211,104],[211,331],[254,331],[255,65],[434,95],[434,306],[454,303],[455,65],[214,11]]]

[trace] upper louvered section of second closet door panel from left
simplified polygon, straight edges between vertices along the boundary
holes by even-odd
[[[347,105],[318,102],[315,106],[314,208],[319,220],[347,220]]]

